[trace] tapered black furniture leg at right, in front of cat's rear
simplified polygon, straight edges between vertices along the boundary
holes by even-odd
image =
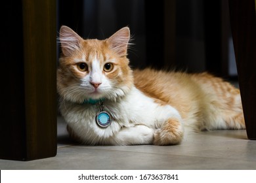
[[[247,137],[256,140],[255,0],[230,0],[229,6]]]

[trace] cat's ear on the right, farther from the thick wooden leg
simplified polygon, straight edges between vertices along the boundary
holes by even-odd
[[[114,35],[108,38],[107,42],[110,49],[114,50],[119,56],[127,55],[127,48],[130,39],[130,29],[129,27],[123,27],[119,29]]]

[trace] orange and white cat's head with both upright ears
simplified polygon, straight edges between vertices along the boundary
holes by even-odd
[[[57,71],[59,95],[75,103],[123,97],[133,86],[127,59],[129,39],[128,27],[105,40],[85,40],[62,26],[59,36],[62,56]]]

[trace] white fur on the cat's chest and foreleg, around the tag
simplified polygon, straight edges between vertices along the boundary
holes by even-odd
[[[60,110],[75,136],[86,144],[150,144],[154,131],[168,118],[181,120],[175,108],[159,105],[135,87],[122,99],[104,101],[104,110],[112,116],[107,128],[95,122],[98,105],[62,101]]]

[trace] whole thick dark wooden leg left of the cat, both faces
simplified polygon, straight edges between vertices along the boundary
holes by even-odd
[[[8,14],[1,16],[7,21],[1,44],[5,90],[0,158],[31,160],[55,156],[56,2],[24,0],[2,4]]]

